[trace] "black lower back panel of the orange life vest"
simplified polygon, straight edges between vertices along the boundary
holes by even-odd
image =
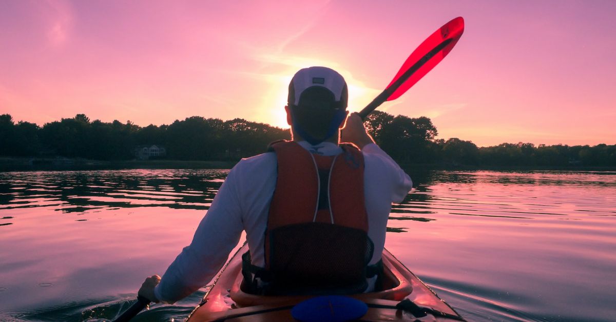
[[[374,246],[365,231],[331,223],[299,223],[270,231],[270,294],[352,294],[367,287]],[[360,246],[361,245],[361,246]]]

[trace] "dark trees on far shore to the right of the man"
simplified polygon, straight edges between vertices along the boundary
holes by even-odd
[[[501,143],[477,147],[458,138],[436,139],[437,129],[426,117],[408,118],[374,111],[368,132],[393,159],[402,163],[440,163],[480,167],[616,166],[616,145],[545,145]]]

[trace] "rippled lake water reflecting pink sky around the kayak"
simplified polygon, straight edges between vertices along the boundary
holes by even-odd
[[[0,172],[0,320],[114,318],[227,173]],[[408,173],[386,248],[466,319],[616,320],[616,172]],[[136,321],[181,321],[204,290]]]

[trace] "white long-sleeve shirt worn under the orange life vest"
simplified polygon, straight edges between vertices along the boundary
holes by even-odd
[[[321,155],[342,152],[330,142],[315,146],[306,141],[298,143]],[[391,204],[402,202],[413,182],[376,144],[363,147],[362,154],[368,236],[375,246],[370,264],[375,264],[383,252]],[[264,232],[276,179],[274,152],[242,159],[231,169],[195,231],[192,243],[169,265],[156,286],[158,300],[172,304],[209,283],[225,264],[243,230],[253,264],[264,267]]]

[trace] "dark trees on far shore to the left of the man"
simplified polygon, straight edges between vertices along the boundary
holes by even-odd
[[[0,115],[0,155],[23,157],[127,160],[139,145],[166,149],[167,159],[239,159],[265,151],[274,140],[289,139],[288,130],[268,124],[192,116],[161,126],[140,127],[131,121],[90,121],[84,114],[42,127]]]

